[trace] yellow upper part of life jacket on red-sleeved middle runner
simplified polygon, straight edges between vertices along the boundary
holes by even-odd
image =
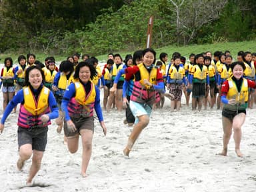
[[[139,67],[139,73],[141,74],[141,80],[139,80],[139,83],[143,87],[146,87],[146,89],[150,89],[149,85],[145,85],[144,79],[147,79],[151,84],[157,85],[157,69],[153,67],[150,71],[147,71],[145,65],[143,63],[137,65]]]

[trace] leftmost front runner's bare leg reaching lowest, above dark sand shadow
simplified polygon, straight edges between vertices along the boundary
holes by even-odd
[[[32,179],[40,170],[42,159],[43,151],[33,150],[32,165],[30,167],[29,177],[27,178],[27,185],[30,185],[32,183]]]

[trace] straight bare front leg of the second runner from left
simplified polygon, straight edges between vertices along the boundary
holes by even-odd
[[[91,143],[93,140],[93,131],[82,129],[80,131],[83,143],[83,155],[82,155],[82,167],[81,167],[81,175],[86,177],[87,167],[89,165],[89,161],[91,159]]]

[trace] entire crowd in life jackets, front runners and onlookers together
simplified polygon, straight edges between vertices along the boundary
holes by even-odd
[[[235,153],[240,151],[241,126],[245,122],[246,108],[253,106],[255,83],[255,53],[239,51],[233,61],[229,51],[191,54],[189,61],[180,53],[173,53],[168,65],[167,53],[161,53],[159,61],[156,52],[147,48],[133,55],[110,53],[107,63],[101,67],[98,60],[79,54],[62,61],[59,69],[54,57],[47,57],[45,65],[35,61],[35,55],[21,55],[19,65],[13,67],[10,57],[4,61],[1,71],[3,91],[3,117],[0,131],[8,115],[20,103],[18,117],[19,160],[21,170],[27,159],[32,157],[32,165],[27,178],[31,185],[33,177],[40,169],[43,152],[47,144],[48,125],[56,119],[57,132],[64,127],[65,142],[71,153],[79,147],[79,135],[83,143],[81,175],[87,176],[91,157],[94,132],[93,111],[106,135],[107,128],[101,111],[101,88],[104,90],[103,109],[113,107],[117,111],[125,108],[125,121],[133,130],[129,135],[123,154],[129,156],[135,141],[149,124],[153,109],[163,107],[165,97],[171,99],[171,111],[181,107],[181,96],[185,93],[186,104],[192,92],[192,109],[201,110],[203,103],[212,108],[222,108],[223,151],[227,155],[227,145],[232,129],[235,139]],[[239,57],[241,56],[241,59]],[[124,62],[124,64],[123,64]],[[15,94],[16,92],[16,94]],[[12,93],[12,94],[11,94]],[[209,94],[210,93],[210,94]],[[216,97],[219,93],[218,97]],[[222,103],[222,104],[221,104]]]

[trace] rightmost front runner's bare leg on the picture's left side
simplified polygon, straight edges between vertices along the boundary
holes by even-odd
[[[222,126],[223,126],[223,150],[219,155],[227,155],[227,145],[229,145],[229,140],[232,134],[232,121],[227,117],[222,116]]]

